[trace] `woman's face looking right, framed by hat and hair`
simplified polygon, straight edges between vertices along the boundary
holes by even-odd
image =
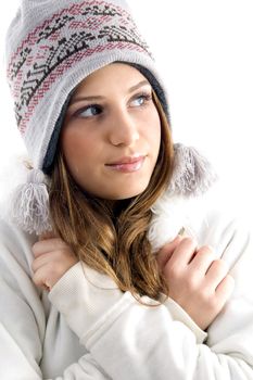
[[[149,185],[161,142],[152,89],[136,68],[110,64],[75,90],[61,136],[75,181],[107,200],[140,194]]]

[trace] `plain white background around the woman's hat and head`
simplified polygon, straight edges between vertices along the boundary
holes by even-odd
[[[169,94],[175,141],[193,144],[226,180],[231,204],[253,208],[252,0],[131,0]],[[0,174],[23,152],[3,68],[18,1],[0,4]]]

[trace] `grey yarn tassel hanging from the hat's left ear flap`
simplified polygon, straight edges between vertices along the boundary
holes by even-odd
[[[39,169],[28,173],[27,182],[12,194],[11,219],[24,231],[41,235],[51,230],[46,176]]]

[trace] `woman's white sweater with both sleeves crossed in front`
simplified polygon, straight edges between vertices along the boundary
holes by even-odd
[[[187,225],[176,212],[174,225],[164,204],[154,208],[150,239],[156,248]],[[230,300],[206,331],[173,300],[143,306],[80,263],[50,293],[37,289],[30,269],[35,236],[1,223],[0,379],[252,380],[252,237],[241,220],[225,214],[194,219],[188,220],[188,233],[199,245],[212,245],[236,280]]]

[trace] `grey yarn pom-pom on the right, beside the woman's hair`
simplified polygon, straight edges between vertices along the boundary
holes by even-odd
[[[169,194],[197,197],[206,192],[217,180],[210,162],[197,149],[174,144],[174,172]]]

